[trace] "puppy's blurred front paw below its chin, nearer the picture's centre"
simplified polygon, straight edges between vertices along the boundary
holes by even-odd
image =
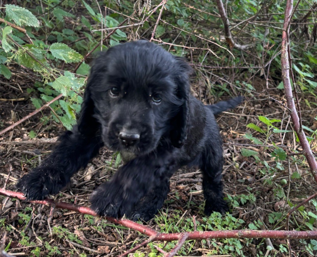
[[[90,197],[91,209],[100,216],[121,218],[129,215],[139,197],[120,183],[109,181],[100,185]]]

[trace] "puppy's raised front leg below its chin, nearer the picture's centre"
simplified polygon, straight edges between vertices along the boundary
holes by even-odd
[[[155,180],[171,177],[177,168],[173,151],[136,157],[94,190],[91,208],[99,215],[130,216],[133,206],[157,184]]]

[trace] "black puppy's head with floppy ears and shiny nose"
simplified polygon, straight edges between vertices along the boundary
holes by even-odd
[[[92,67],[81,116],[87,116],[88,104],[93,107],[102,140],[114,151],[145,154],[162,137],[181,147],[187,136],[190,73],[187,63],[154,43],[114,46]]]

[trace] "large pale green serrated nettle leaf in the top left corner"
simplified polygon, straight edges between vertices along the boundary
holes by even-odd
[[[5,4],[6,15],[13,20],[16,25],[27,25],[31,27],[40,27],[40,22],[36,17],[27,9],[14,5],[14,4]]]

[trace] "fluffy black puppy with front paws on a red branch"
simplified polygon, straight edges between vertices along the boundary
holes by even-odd
[[[170,177],[184,165],[203,172],[205,214],[225,213],[222,140],[214,114],[234,108],[242,97],[204,105],[190,95],[191,73],[182,58],[147,41],[100,53],[77,125],[17,188],[32,200],[56,194],[105,145],[130,160],[92,193],[99,215],[151,219],[169,192]]]

